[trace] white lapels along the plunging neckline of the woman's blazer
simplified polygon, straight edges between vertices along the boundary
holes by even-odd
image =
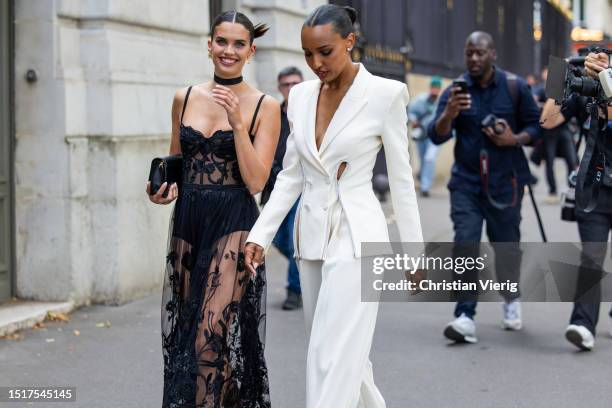
[[[363,107],[367,104],[367,99],[365,98],[365,91],[367,89],[368,83],[370,82],[370,74],[362,64],[359,64],[359,72],[357,72],[357,76],[353,80],[353,84],[340,101],[340,105],[334,113],[329,126],[327,127],[327,131],[325,132],[325,136],[323,137],[323,142],[321,144],[321,148],[319,149],[318,156],[322,156],[325,152],[325,149],[331,144],[334,138],[344,129],[349,122],[357,116],[357,114],[363,109]],[[318,96],[318,92],[316,94]],[[316,106],[316,100],[315,100]],[[316,112],[315,112],[316,115]],[[314,120],[313,120],[313,135],[314,135]],[[314,141],[314,136],[312,137]],[[314,145],[314,142],[313,142]],[[316,152],[316,145],[314,145]]]

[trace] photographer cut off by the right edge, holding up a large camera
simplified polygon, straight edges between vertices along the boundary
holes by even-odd
[[[609,65],[609,56],[606,53],[590,53],[584,60],[584,74],[598,80],[598,74],[607,69]],[[545,129],[555,128],[572,117],[578,118],[579,122],[584,122],[589,115],[585,100],[588,99],[577,92],[573,92],[563,101],[561,106],[556,105],[552,99],[548,100],[542,112],[542,127]],[[608,98],[608,103],[609,101]],[[588,102],[596,101],[590,99]],[[605,101],[602,105],[605,105]],[[591,118],[590,126],[594,125],[596,128],[593,128],[594,133],[587,138],[599,137],[600,143],[597,143],[597,147],[595,147],[598,150],[596,155],[601,154],[609,160],[612,158],[612,129],[610,128],[611,123],[606,123],[606,118],[612,116],[610,115],[610,108],[607,107],[607,112],[605,109],[606,107],[598,108],[596,123],[593,123],[593,118]],[[581,169],[584,167],[583,170],[587,177],[590,176],[590,172],[587,170],[592,170],[589,167],[593,167],[593,163],[587,162],[587,156],[593,157],[589,150],[593,153],[593,147],[589,147],[587,140],[585,156],[583,156],[581,163]],[[579,183],[581,181],[578,179]],[[591,181],[586,180],[586,184],[591,183]],[[612,228],[612,186],[608,184],[602,182],[599,185],[597,197],[594,195],[580,197],[579,194],[585,195],[588,192],[580,188],[576,192],[577,202],[582,201],[583,205],[576,208],[575,220],[578,223],[580,240],[587,244],[583,247],[576,300],[570,317],[570,325],[565,331],[565,337],[581,350],[591,350],[595,345],[595,329],[599,319],[601,300],[601,265],[606,255],[608,237]],[[588,198],[593,202],[585,202],[588,201]],[[612,317],[612,310],[610,316]]]

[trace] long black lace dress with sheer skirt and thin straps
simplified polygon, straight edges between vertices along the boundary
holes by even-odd
[[[259,212],[240,176],[233,132],[207,137],[183,125],[190,92],[162,295],[163,406],[269,407],[265,270],[252,280],[243,252]]]

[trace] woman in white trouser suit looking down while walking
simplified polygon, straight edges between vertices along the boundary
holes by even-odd
[[[355,19],[350,7],[323,5],[302,27],[306,62],[319,79],[291,90],[284,170],[245,249],[254,274],[301,194],[294,242],[310,334],[308,408],[385,406],[368,358],[378,303],[360,297],[361,243],[389,241],[371,183],[383,145],[400,237],[422,241],[408,155],[408,91],[351,61]]]

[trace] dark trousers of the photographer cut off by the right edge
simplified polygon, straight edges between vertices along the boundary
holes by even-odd
[[[607,208],[607,211],[610,209]],[[577,211],[576,219],[580,240],[587,244],[583,246],[585,255],[581,260],[576,288],[576,297],[579,300],[574,302],[570,324],[584,326],[595,335],[601,302],[600,281],[603,274],[601,266],[607,249],[607,245],[599,243],[608,242],[610,228],[612,228],[612,213],[597,211],[597,209],[590,213]],[[612,317],[612,310],[610,310],[610,316]]]

